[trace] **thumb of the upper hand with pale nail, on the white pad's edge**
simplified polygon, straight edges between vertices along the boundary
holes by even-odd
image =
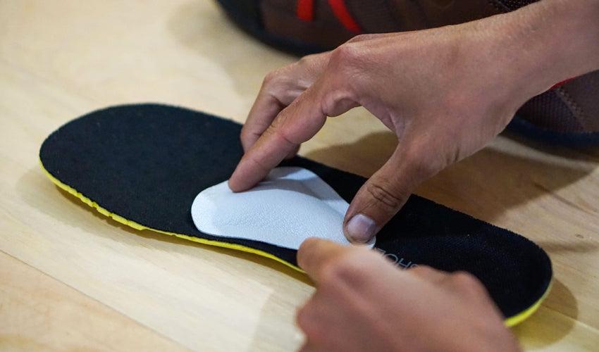
[[[393,156],[359,189],[343,220],[345,237],[368,243],[405,204],[421,178],[397,147]]]

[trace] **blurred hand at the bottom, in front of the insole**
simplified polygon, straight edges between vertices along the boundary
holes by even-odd
[[[519,351],[478,280],[307,239],[297,261],[316,293],[297,312],[301,351]]]

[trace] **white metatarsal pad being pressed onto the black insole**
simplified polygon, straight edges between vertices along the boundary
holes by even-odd
[[[298,249],[308,237],[349,244],[343,218],[349,204],[314,172],[276,168],[253,189],[233,193],[227,182],[205,189],[192,204],[199,231]]]

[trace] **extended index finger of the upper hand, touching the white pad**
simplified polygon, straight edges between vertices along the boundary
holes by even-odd
[[[242,157],[229,180],[233,191],[245,191],[260,182],[285,156],[321,130],[327,115],[340,115],[357,106],[349,94],[319,80],[275,118]]]

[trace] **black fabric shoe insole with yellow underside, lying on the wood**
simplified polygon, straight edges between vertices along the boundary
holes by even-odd
[[[299,270],[295,249],[261,237],[215,236],[194,225],[190,209],[198,193],[228,180],[242,156],[240,130],[236,122],[185,108],[114,106],[60,127],[39,157],[59,187],[137,230],[256,253]],[[365,181],[301,157],[282,166],[314,172],[347,202]],[[529,239],[416,195],[378,233],[373,250],[399,268],[471,272],[507,325],[538,308],[552,278],[550,259]]]

